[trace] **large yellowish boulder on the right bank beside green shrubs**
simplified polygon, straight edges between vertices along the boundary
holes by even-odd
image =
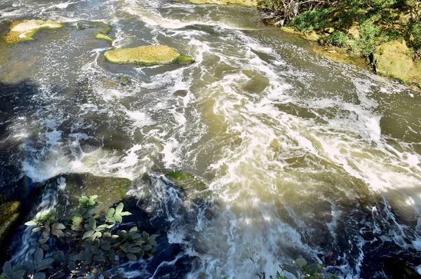
[[[392,76],[406,83],[419,81],[421,63],[414,62],[405,41],[390,41],[375,49],[373,54],[377,74]]]

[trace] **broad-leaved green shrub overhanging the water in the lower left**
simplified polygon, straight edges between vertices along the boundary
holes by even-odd
[[[11,266],[7,261],[3,266],[1,279],[58,279],[65,275],[76,278],[89,275],[103,275],[108,278],[122,278],[118,273],[121,261],[137,261],[139,257],[152,257],[155,252],[156,235],[138,232],[133,226],[130,231],[112,231],[122,222],[123,216],[131,215],[123,211],[123,203],[110,208],[105,215],[97,216],[95,207],[98,196],[82,196],[79,209],[72,210],[67,224],[59,222],[55,208],[49,212],[39,212],[35,219],[25,223],[34,226],[32,231],[41,233],[34,254],[34,263]],[[46,244],[51,236],[68,245],[66,251],[56,250],[44,258],[44,251],[50,250]],[[114,273],[114,274],[113,274]]]

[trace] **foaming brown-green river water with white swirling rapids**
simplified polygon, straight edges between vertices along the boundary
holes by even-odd
[[[91,172],[131,179],[138,198],[152,192],[166,241],[183,256],[121,266],[127,276],[172,278],[185,268],[186,278],[255,278],[248,247],[267,274],[297,257],[325,261],[341,278],[387,278],[388,257],[421,264],[414,92],[326,60],[262,25],[254,9],[1,0],[0,15],[65,25],[0,43],[0,187]],[[115,48],[165,44],[196,62],[109,64],[102,54],[111,47],[77,29],[80,20],[112,25]],[[183,203],[160,179],[169,170],[208,184],[212,217],[168,209]],[[38,210],[54,205],[59,186],[44,190]],[[20,233],[15,261],[30,256],[32,233]]]

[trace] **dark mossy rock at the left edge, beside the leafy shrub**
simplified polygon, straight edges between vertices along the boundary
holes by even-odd
[[[0,247],[13,233],[13,228],[20,217],[20,202],[11,201],[0,205]]]

